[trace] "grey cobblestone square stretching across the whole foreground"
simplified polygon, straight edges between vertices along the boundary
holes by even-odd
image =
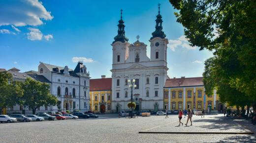
[[[106,114],[99,115],[98,119],[0,123],[0,143],[256,142],[255,135],[138,133],[150,128],[154,131],[246,131],[244,127],[231,119],[222,118],[221,115],[209,115],[205,118],[194,116],[193,121],[192,126],[185,127],[177,126],[177,115],[169,115],[168,119],[165,116],[125,119],[118,118],[116,114]]]

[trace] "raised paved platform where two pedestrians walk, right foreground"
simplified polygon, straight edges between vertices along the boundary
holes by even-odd
[[[182,122],[184,125],[179,125],[178,121],[173,121],[143,130],[140,133],[253,134],[253,132],[239,125],[237,122],[230,118],[225,118],[222,115],[210,115],[205,116],[205,118],[194,115],[192,117],[192,126],[190,120],[188,125],[185,125],[187,118],[183,118]]]

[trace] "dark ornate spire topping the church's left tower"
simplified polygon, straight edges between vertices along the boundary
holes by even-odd
[[[117,42],[117,41],[120,41],[120,42],[128,42],[128,38],[126,37],[125,35],[125,22],[123,21],[123,17],[122,17],[122,14],[123,14],[123,9],[121,9],[121,19],[119,20],[119,24],[117,25],[118,26],[118,34],[117,36],[114,38],[114,42]]]

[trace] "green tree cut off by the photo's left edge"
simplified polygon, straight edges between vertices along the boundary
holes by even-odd
[[[7,71],[0,71],[0,107],[6,108],[20,104],[23,90],[21,82],[13,81]]]

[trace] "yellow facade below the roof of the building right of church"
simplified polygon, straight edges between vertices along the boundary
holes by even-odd
[[[171,92],[169,94],[169,91]],[[184,96],[185,92],[185,96]],[[214,100],[214,95],[216,96]],[[164,108],[168,110],[179,110],[179,109],[196,109],[196,110],[207,110],[211,107],[212,110],[220,110],[219,96],[214,94],[212,96],[205,95],[204,102],[204,87],[181,87],[181,88],[164,88],[163,104]],[[170,101],[169,101],[170,96]],[[195,97],[194,97],[195,96]],[[185,97],[185,99],[184,99]],[[195,102],[194,102],[195,99]],[[215,102],[214,102],[215,101]],[[169,105],[170,102],[170,105]],[[209,106],[208,106],[209,105]],[[215,107],[215,108],[214,108]],[[224,109],[224,106],[222,106]]]

